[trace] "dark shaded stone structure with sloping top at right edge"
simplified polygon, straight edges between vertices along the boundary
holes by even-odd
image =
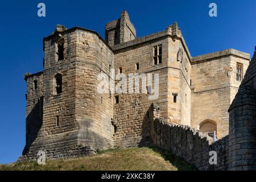
[[[256,47],[229,108],[229,169],[256,170]]]

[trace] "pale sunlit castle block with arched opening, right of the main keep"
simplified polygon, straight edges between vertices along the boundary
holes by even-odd
[[[236,65],[243,64],[244,74],[249,60],[249,55],[234,49],[193,57],[191,65],[192,127],[199,129],[199,125],[209,119],[217,124],[218,138],[225,137],[229,133],[227,109],[241,83],[235,80]]]

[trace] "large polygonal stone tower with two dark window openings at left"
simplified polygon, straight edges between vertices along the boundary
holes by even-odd
[[[87,155],[113,147],[113,96],[98,94],[99,73],[110,75],[113,52],[84,28],[57,26],[43,39],[44,70],[26,74],[26,146],[32,159]]]

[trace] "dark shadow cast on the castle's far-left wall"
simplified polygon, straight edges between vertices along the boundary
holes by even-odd
[[[37,104],[30,111],[26,117],[26,146],[22,152],[22,155],[26,155],[29,152],[29,148],[34,140],[37,138],[38,132],[43,123],[43,97],[38,98]]]

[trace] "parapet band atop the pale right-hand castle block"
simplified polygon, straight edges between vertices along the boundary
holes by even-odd
[[[213,53],[207,53],[205,55],[195,56],[192,57],[192,63],[197,63],[199,61],[209,60],[209,59],[215,59],[217,57],[223,57],[223,56],[237,56],[241,57],[243,59],[250,61],[250,54],[246,52],[241,52],[236,49],[225,49],[223,51],[213,52]]]

